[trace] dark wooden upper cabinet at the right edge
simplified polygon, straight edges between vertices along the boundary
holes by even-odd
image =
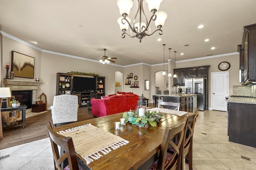
[[[256,24],[244,27],[240,50],[240,70],[243,84],[256,81]]]

